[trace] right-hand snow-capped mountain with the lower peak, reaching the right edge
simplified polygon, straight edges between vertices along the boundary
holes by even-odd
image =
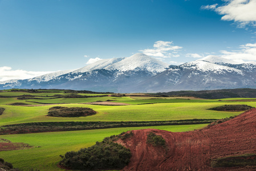
[[[256,88],[255,64],[225,62],[225,59],[220,58],[209,61],[203,58],[184,63],[153,76],[138,87],[144,87],[144,92]]]

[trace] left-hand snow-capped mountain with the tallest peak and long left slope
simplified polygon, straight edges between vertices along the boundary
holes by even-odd
[[[74,71],[54,72],[32,79],[0,82],[6,88],[66,88],[93,91],[123,91],[131,84],[151,78],[169,65],[145,54],[127,58],[102,59]]]

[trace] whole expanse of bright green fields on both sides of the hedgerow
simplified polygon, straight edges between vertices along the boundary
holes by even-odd
[[[44,92],[43,92],[44,91]],[[32,95],[40,99],[18,100],[17,96]],[[166,121],[166,120],[190,120],[190,119],[222,119],[239,115],[242,112],[211,111],[209,108],[225,104],[247,104],[256,107],[255,99],[194,99],[193,97],[152,97],[152,96],[104,96],[99,94],[78,93],[82,96],[95,96],[87,98],[57,98],[54,95],[68,95],[64,91],[42,90],[42,92],[0,92],[0,107],[5,111],[0,115],[0,128],[3,125],[57,122],[57,121]],[[103,95],[103,94],[100,94]],[[226,101],[247,100],[247,101]],[[112,103],[126,103],[130,105],[92,105],[83,104],[95,101],[111,101]],[[17,106],[12,103],[25,103],[38,106]],[[42,104],[40,104],[42,103]],[[43,105],[43,104],[51,105]],[[62,107],[89,107],[94,109],[96,115],[87,117],[50,117],[46,116],[48,109],[54,106]],[[13,143],[27,143],[35,147],[32,149],[12,150],[0,152],[0,157],[12,162],[15,167],[21,169],[35,168],[40,170],[63,170],[56,166],[60,161],[60,154],[70,150],[79,150],[103,140],[104,137],[117,135],[132,129],[163,129],[172,132],[193,131],[207,124],[195,125],[162,125],[155,127],[129,127],[95,129],[68,132],[45,132],[15,135],[1,135]]]

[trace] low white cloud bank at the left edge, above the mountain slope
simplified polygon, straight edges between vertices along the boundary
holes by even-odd
[[[49,74],[52,71],[24,71],[24,70],[12,70],[11,67],[0,67],[0,81],[6,81],[10,79],[30,79],[36,76]]]

